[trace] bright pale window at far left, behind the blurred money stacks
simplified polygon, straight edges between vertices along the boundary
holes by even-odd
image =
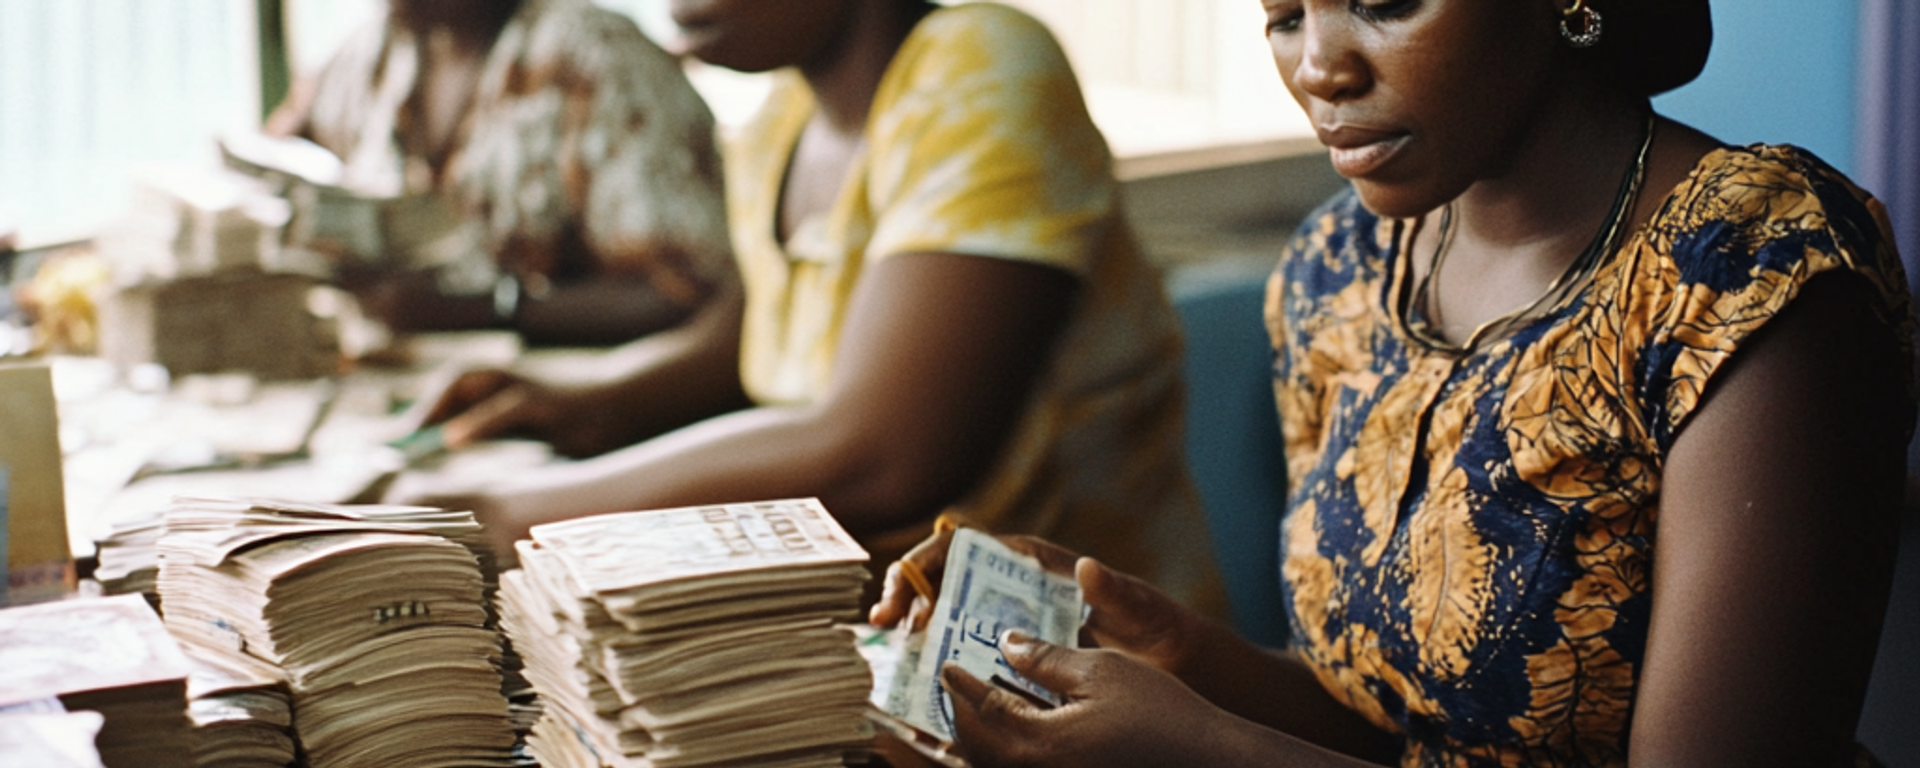
[[[0,228],[90,234],[156,161],[259,121],[253,0],[0,2]]]

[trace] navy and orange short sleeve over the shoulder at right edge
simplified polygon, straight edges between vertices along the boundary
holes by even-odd
[[[1665,253],[1644,284],[1668,284],[1638,313],[1655,328],[1642,359],[1649,434],[1661,451],[1693,415],[1715,374],[1822,275],[1874,286],[1876,317],[1910,353],[1907,276],[1876,200],[1791,146],[1722,150],[1651,225]],[[1665,273],[1665,275],[1653,275]]]

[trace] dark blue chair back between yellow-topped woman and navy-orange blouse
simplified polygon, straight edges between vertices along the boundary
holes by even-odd
[[[1192,275],[1173,280],[1171,294],[1187,332],[1187,459],[1235,628],[1279,647],[1286,643],[1279,586],[1286,461],[1261,321],[1265,273]]]

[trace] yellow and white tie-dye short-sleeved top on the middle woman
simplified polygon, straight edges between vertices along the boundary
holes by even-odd
[[[1183,457],[1181,336],[1119,213],[1106,140],[1046,29],[1006,6],[922,19],[900,44],[839,200],[776,240],[787,161],[814,96],[781,73],[728,142],[728,215],[747,286],[741,376],[758,403],[820,397],[860,276],[899,253],[1073,273],[1079,303],[1016,434],[954,511],[1039,534],[1215,609],[1219,586]],[[870,538],[889,563],[927,526]]]

